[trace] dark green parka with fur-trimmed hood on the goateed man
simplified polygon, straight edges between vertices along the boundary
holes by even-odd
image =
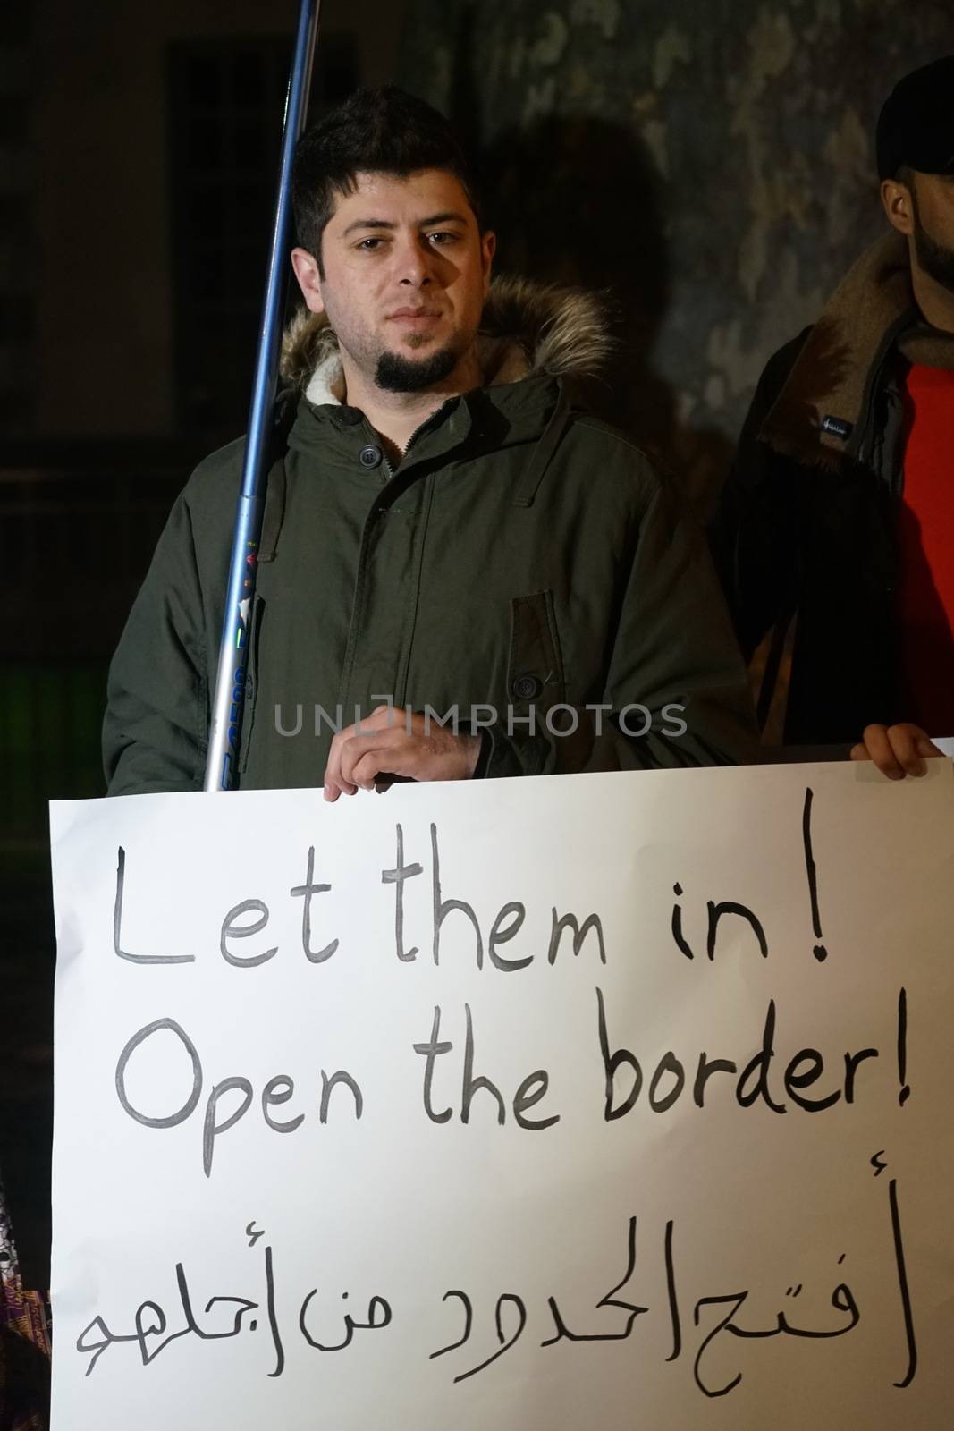
[[[598,306],[498,280],[479,343],[488,385],[445,402],[392,471],[339,401],[333,333],[312,316],[289,332],[283,371],[306,391],[269,481],[243,788],[320,786],[332,727],[386,698],[476,721],[481,776],[751,758],[701,537],[642,452],[571,405],[605,352]],[[200,464],[133,605],[110,794],[202,787],[240,462],[239,441]]]

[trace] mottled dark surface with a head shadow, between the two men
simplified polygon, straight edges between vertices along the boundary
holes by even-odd
[[[872,129],[950,0],[416,0],[399,80],[485,156],[501,262],[612,289],[612,411],[702,497],[881,229]]]

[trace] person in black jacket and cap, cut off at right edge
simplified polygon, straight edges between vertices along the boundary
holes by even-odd
[[[768,362],[714,550],[759,718],[892,778],[954,736],[954,56],[877,130],[890,233]],[[771,633],[771,637],[769,637]]]

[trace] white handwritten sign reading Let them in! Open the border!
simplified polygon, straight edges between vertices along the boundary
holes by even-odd
[[[53,1431],[937,1428],[954,780],[53,806]]]

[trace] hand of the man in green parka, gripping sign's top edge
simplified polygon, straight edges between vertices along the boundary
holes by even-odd
[[[335,736],[325,768],[325,798],[373,790],[379,776],[405,780],[469,780],[481,754],[479,736],[455,736],[392,705]]]

